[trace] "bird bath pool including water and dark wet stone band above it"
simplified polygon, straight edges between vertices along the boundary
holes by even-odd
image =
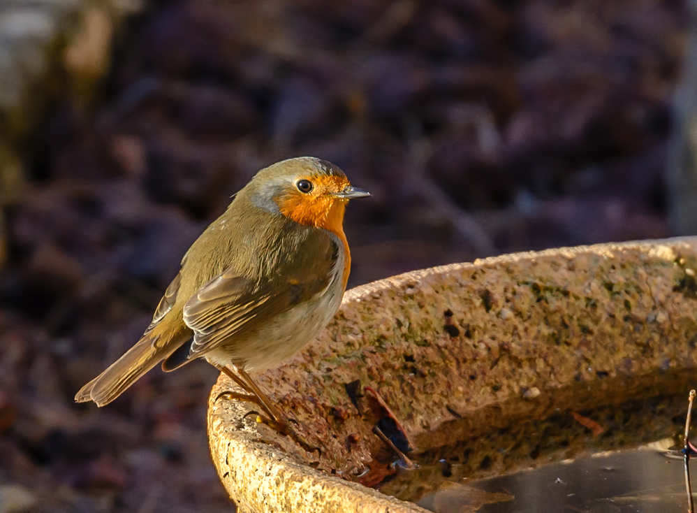
[[[682,439],[691,374],[492,405],[420,437],[419,467],[380,489],[437,513],[685,512],[684,461],[667,449]]]

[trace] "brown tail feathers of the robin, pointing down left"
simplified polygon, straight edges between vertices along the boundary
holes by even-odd
[[[75,402],[86,403],[89,400],[94,400],[97,406],[111,403],[189,338],[189,335],[185,333],[178,335],[175,335],[175,338],[181,340],[168,340],[166,344],[159,345],[153,343],[152,333],[146,333],[124,356],[83,386],[75,395]]]

